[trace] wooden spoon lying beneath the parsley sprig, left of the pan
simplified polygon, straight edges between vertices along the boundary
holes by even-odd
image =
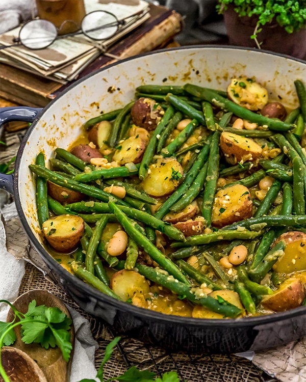
[[[57,307],[69,318],[71,318],[68,309],[62,303],[62,301],[46,290],[36,289],[23,293],[15,300],[13,305],[21,313],[26,313],[28,311],[29,303],[34,299],[36,301],[36,306],[45,305],[46,307]],[[12,309],[10,309],[7,317],[7,322],[13,321],[14,316],[14,312]],[[17,321],[18,319],[16,319],[16,322]],[[69,362],[65,362],[62,356],[62,351],[59,347],[49,347],[48,349],[45,349],[37,343],[25,344],[21,340],[20,326],[16,326],[14,330],[17,339],[12,346],[27,353],[37,363],[37,365],[43,371],[47,382],[69,382],[73,348]],[[73,345],[73,324],[71,325],[70,329],[70,341]]]

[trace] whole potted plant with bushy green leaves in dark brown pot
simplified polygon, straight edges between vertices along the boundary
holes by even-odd
[[[306,56],[305,0],[219,0],[232,45]]]

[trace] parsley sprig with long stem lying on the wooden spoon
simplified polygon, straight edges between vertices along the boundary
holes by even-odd
[[[36,306],[35,300],[30,302],[25,314],[19,312],[6,300],[0,300],[0,303],[8,304],[15,313],[12,322],[0,321],[0,375],[4,382],[10,382],[10,380],[1,363],[1,348],[15,342],[16,335],[13,329],[18,325],[20,325],[21,340],[24,343],[39,343],[45,349],[58,346],[64,360],[68,362],[72,349],[69,332],[72,321],[65,313],[56,307]],[[16,318],[19,319],[18,322],[15,322]]]

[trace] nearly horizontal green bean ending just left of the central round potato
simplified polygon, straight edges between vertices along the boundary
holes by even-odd
[[[136,165],[135,170],[130,170],[126,166],[113,167],[111,169],[93,170],[90,172],[84,172],[74,177],[74,180],[81,183],[89,183],[97,179],[110,179],[128,177],[138,174],[139,164]]]

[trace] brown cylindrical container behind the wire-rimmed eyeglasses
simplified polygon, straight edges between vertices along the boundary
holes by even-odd
[[[66,34],[81,29],[85,16],[84,0],[36,0],[37,15],[51,21],[58,34]]]

